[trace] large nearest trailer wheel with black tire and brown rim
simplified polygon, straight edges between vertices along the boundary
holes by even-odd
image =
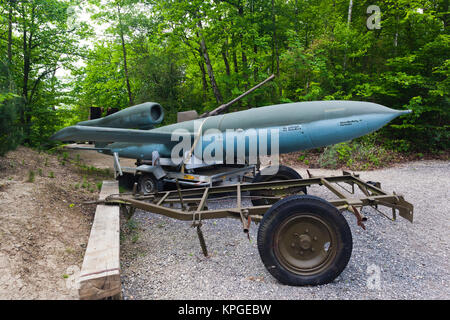
[[[295,195],[274,204],[258,230],[258,250],[267,270],[281,283],[320,285],[347,266],[352,234],[329,202]]]

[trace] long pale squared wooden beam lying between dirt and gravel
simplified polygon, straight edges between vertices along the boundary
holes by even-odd
[[[119,193],[117,181],[103,181],[100,200]],[[98,205],[80,275],[81,300],[118,298],[120,283],[119,206]]]

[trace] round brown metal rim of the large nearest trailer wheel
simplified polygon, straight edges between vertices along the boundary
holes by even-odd
[[[320,273],[336,256],[336,233],[326,221],[311,214],[292,216],[280,225],[274,237],[275,256],[295,274]]]

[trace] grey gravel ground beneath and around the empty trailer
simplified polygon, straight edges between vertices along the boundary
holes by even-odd
[[[304,169],[299,172],[306,176]],[[137,211],[133,222],[139,237],[134,242],[129,235],[123,237],[124,298],[449,299],[449,173],[450,162],[440,161],[361,172],[362,179],[380,181],[384,190],[397,191],[412,202],[415,221],[411,224],[399,217],[392,222],[366,208],[364,231],[351,213],[344,213],[353,234],[352,257],[337,279],[316,287],[282,285],[266,271],[256,245],[255,224],[249,242],[238,220],[205,221],[203,232],[212,253],[206,259],[189,223]],[[312,187],[308,193],[330,198],[323,187]],[[232,204],[222,200],[209,207]],[[373,283],[369,281],[374,276],[372,268],[380,271],[378,288],[368,285]]]

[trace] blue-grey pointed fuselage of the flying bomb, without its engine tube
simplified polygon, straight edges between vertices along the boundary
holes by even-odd
[[[147,160],[151,159],[153,151],[158,151],[161,157],[170,158],[182,137],[189,135],[189,143],[195,146],[196,155],[211,151],[212,143],[216,147],[222,147],[223,158],[227,154],[242,154],[242,148],[246,157],[255,148],[258,155],[261,151],[268,155],[273,152],[282,154],[352,140],[376,131],[394,118],[409,112],[358,101],[279,104],[148,130],[151,134],[166,135],[168,138],[163,142],[154,143],[152,139],[147,142],[137,135],[133,137],[133,130],[130,130],[129,139],[123,137],[123,132],[120,137],[111,132],[111,141],[108,142],[112,143],[104,152],[117,152],[121,157]],[[82,126],[82,123],[79,125]],[[61,140],[60,138],[57,137]],[[98,138],[100,141],[108,139]],[[99,141],[96,137],[92,137],[92,140]],[[274,141],[277,143],[276,148]],[[260,146],[264,144],[266,149],[260,150]]]

